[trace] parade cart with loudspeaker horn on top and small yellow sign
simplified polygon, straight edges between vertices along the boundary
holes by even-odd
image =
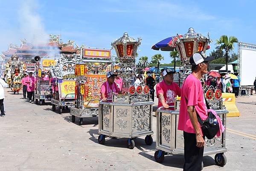
[[[50,101],[52,98],[52,89],[49,81],[50,75],[47,75],[47,72],[49,72],[50,66],[55,65],[55,59],[36,56],[34,61],[37,62],[39,60],[39,65],[36,65],[35,104],[42,105],[45,101]],[[42,73],[45,76],[42,76]]]

